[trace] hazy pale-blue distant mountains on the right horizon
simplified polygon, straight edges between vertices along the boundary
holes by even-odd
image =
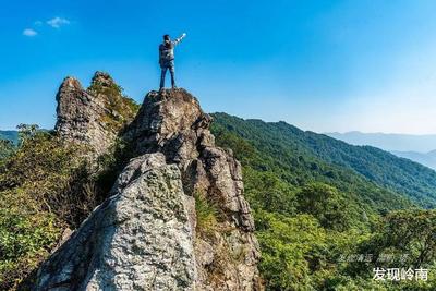
[[[326,133],[351,145],[370,145],[436,170],[436,134]]]

